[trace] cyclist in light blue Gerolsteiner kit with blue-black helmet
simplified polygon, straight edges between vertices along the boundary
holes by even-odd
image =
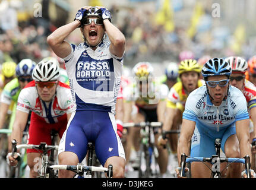
[[[192,157],[216,154],[216,138],[222,140],[221,148],[226,157],[247,154],[251,157],[246,100],[238,88],[229,85],[230,65],[224,59],[214,58],[204,64],[201,72],[206,85],[188,96],[178,143],[179,162],[182,153]],[[210,178],[210,172],[204,163],[191,164],[192,178]],[[241,172],[241,164],[233,163],[227,170],[227,177],[240,178]],[[176,173],[180,177],[179,169]],[[254,175],[253,170],[251,173]]]

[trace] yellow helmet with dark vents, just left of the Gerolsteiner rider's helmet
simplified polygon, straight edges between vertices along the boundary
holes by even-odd
[[[181,64],[179,65],[179,75],[189,71],[195,71],[200,74],[201,68],[195,59],[185,59],[184,61],[181,61]]]

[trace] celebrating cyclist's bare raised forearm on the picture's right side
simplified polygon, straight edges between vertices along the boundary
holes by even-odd
[[[110,42],[114,47],[124,48],[125,47],[125,36],[122,32],[115,27],[108,19],[103,20],[106,33],[109,36]]]

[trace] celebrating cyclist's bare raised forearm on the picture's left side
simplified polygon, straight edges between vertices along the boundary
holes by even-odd
[[[75,21],[72,21],[72,23],[59,27],[58,29],[53,31],[53,33],[50,34],[50,36],[48,36],[47,42],[50,45],[60,44],[64,42],[66,37],[68,37],[68,35],[71,34],[72,31],[77,29],[77,27],[79,26],[80,26],[80,21],[75,20]]]

